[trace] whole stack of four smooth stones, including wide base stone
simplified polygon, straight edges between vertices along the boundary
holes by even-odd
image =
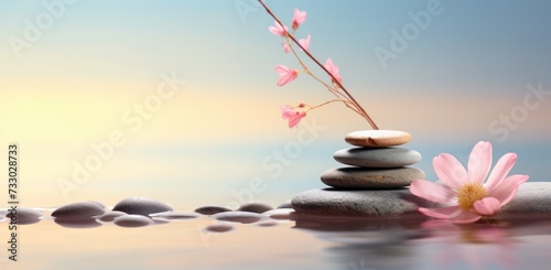
[[[344,166],[321,176],[329,188],[303,192],[292,199],[299,214],[346,216],[395,216],[417,213],[429,202],[414,201],[408,186],[424,179],[411,165],[421,160],[414,150],[402,148],[411,136],[396,130],[365,130],[348,133],[352,148],[336,151],[334,159]]]

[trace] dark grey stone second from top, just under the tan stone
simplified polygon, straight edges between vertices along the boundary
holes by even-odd
[[[333,158],[353,166],[398,168],[418,163],[421,154],[404,148],[350,148],[336,151]]]

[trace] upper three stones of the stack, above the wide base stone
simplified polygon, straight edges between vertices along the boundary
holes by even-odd
[[[344,190],[397,188],[409,186],[413,180],[424,179],[424,172],[411,168],[421,154],[407,148],[411,136],[395,130],[366,130],[348,133],[346,142],[354,148],[336,151],[333,158],[347,166],[322,174],[322,182]]]

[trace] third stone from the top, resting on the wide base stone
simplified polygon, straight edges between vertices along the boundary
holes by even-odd
[[[338,168],[322,174],[322,182],[337,188],[396,188],[409,186],[413,180],[424,179],[415,168],[367,169]]]

